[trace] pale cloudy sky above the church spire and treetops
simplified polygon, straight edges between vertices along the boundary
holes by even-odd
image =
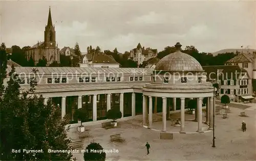
[[[138,42],[158,51],[176,42],[204,52],[256,48],[255,1],[1,2],[1,42],[44,41],[49,6],[59,48],[76,42],[81,51],[98,45],[124,52]]]

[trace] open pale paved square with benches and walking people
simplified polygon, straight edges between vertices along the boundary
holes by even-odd
[[[106,153],[106,160],[256,160],[256,112],[230,109],[229,118],[216,116],[216,148],[211,147],[212,132],[174,134],[174,140],[160,140],[157,131],[141,126],[141,119],[119,122],[117,128],[107,130],[100,125],[87,126],[92,137],[84,139],[84,148],[94,140],[106,150],[118,150],[118,153]],[[249,117],[240,117],[243,111]],[[241,131],[243,120],[247,124],[246,132]],[[110,142],[110,135],[116,133],[121,133],[124,143]],[[78,138],[76,132],[70,136]],[[148,155],[147,141],[151,145]],[[82,153],[73,153],[73,157],[83,160]]]

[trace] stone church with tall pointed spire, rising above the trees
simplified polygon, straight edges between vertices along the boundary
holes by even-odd
[[[35,65],[38,63],[39,59],[45,57],[47,59],[47,64],[50,65],[53,61],[59,61],[59,48],[56,43],[56,32],[55,27],[52,24],[51,8],[49,9],[48,23],[45,28],[45,41],[37,42],[35,45],[30,47],[26,51],[27,60],[30,57],[33,58]]]

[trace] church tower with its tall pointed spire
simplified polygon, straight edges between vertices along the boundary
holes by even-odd
[[[49,8],[48,23],[45,29],[45,47],[55,48],[56,37],[55,27],[52,24],[51,8]]]

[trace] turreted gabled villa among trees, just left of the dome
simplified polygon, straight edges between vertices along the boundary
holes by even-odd
[[[141,47],[141,44],[138,43],[137,47],[130,51],[130,56],[128,58],[140,65],[144,61],[156,57],[157,53],[157,49],[152,49],[149,47],[145,48],[144,46]]]

